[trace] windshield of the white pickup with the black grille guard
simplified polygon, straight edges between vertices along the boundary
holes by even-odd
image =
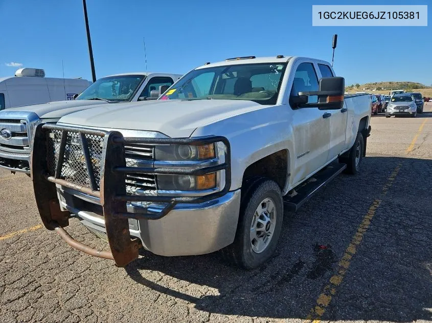
[[[274,105],[285,68],[286,63],[263,63],[195,69],[160,100],[249,100]]]

